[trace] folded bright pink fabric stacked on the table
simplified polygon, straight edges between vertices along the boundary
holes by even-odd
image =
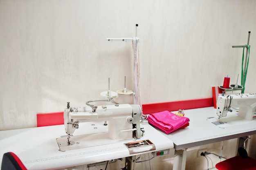
[[[189,126],[188,117],[180,117],[169,111],[162,111],[150,114],[147,118],[149,124],[163,130],[166,134],[173,132],[180,128]]]

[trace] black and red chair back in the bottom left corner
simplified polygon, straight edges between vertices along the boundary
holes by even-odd
[[[13,152],[3,155],[1,170],[27,170],[24,164]]]

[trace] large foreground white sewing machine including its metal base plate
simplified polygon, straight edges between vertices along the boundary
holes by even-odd
[[[113,102],[112,105],[91,105],[90,102]],[[86,102],[85,107],[71,107],[67,102],[67,108],[64,110],[64,125],[66,136],[57,138],[60,151],[86,148],[125,139],[139,139],[143,135],[140,128],[141,108],[137,104],[118,104],[113,99],[91,100]],[[90,130],[88,126],[81,125],[82,122],[90,122],[90,125],[100,124],[106,132]],[[80,128],[80,126],[83,126]],[[104,127],[105,126],[105,127]],[[95,126],[94,128],[97,128]],[[72,134],[76,129],[80,129],[80,134],[90,131],[89,135]],[[92,135],[93,134],[93,135]]]

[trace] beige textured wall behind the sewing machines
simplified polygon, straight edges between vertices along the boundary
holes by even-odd
[[[246,44],[248,31],[245,93],[255,92],[255,8],[254,0],[0,0],[0,130],[103,99],[108,78],[112,91],[124,76],[132,89],[131,42],[106,38],[134,37],[135,24],[143,104],[211,97],[226,75],[235,84],[243,51],[231,46]]]

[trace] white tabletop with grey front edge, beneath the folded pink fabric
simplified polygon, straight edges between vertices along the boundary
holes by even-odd
[[[188,127],[168,135],[162,132],[173,141],[175,150],[256,134],[256,121],[241,120],[235,110],[221,119],[227,123],[220,126],[209,121],[218,118],[214,107],[185,110],[185,117],[190,119]]]

